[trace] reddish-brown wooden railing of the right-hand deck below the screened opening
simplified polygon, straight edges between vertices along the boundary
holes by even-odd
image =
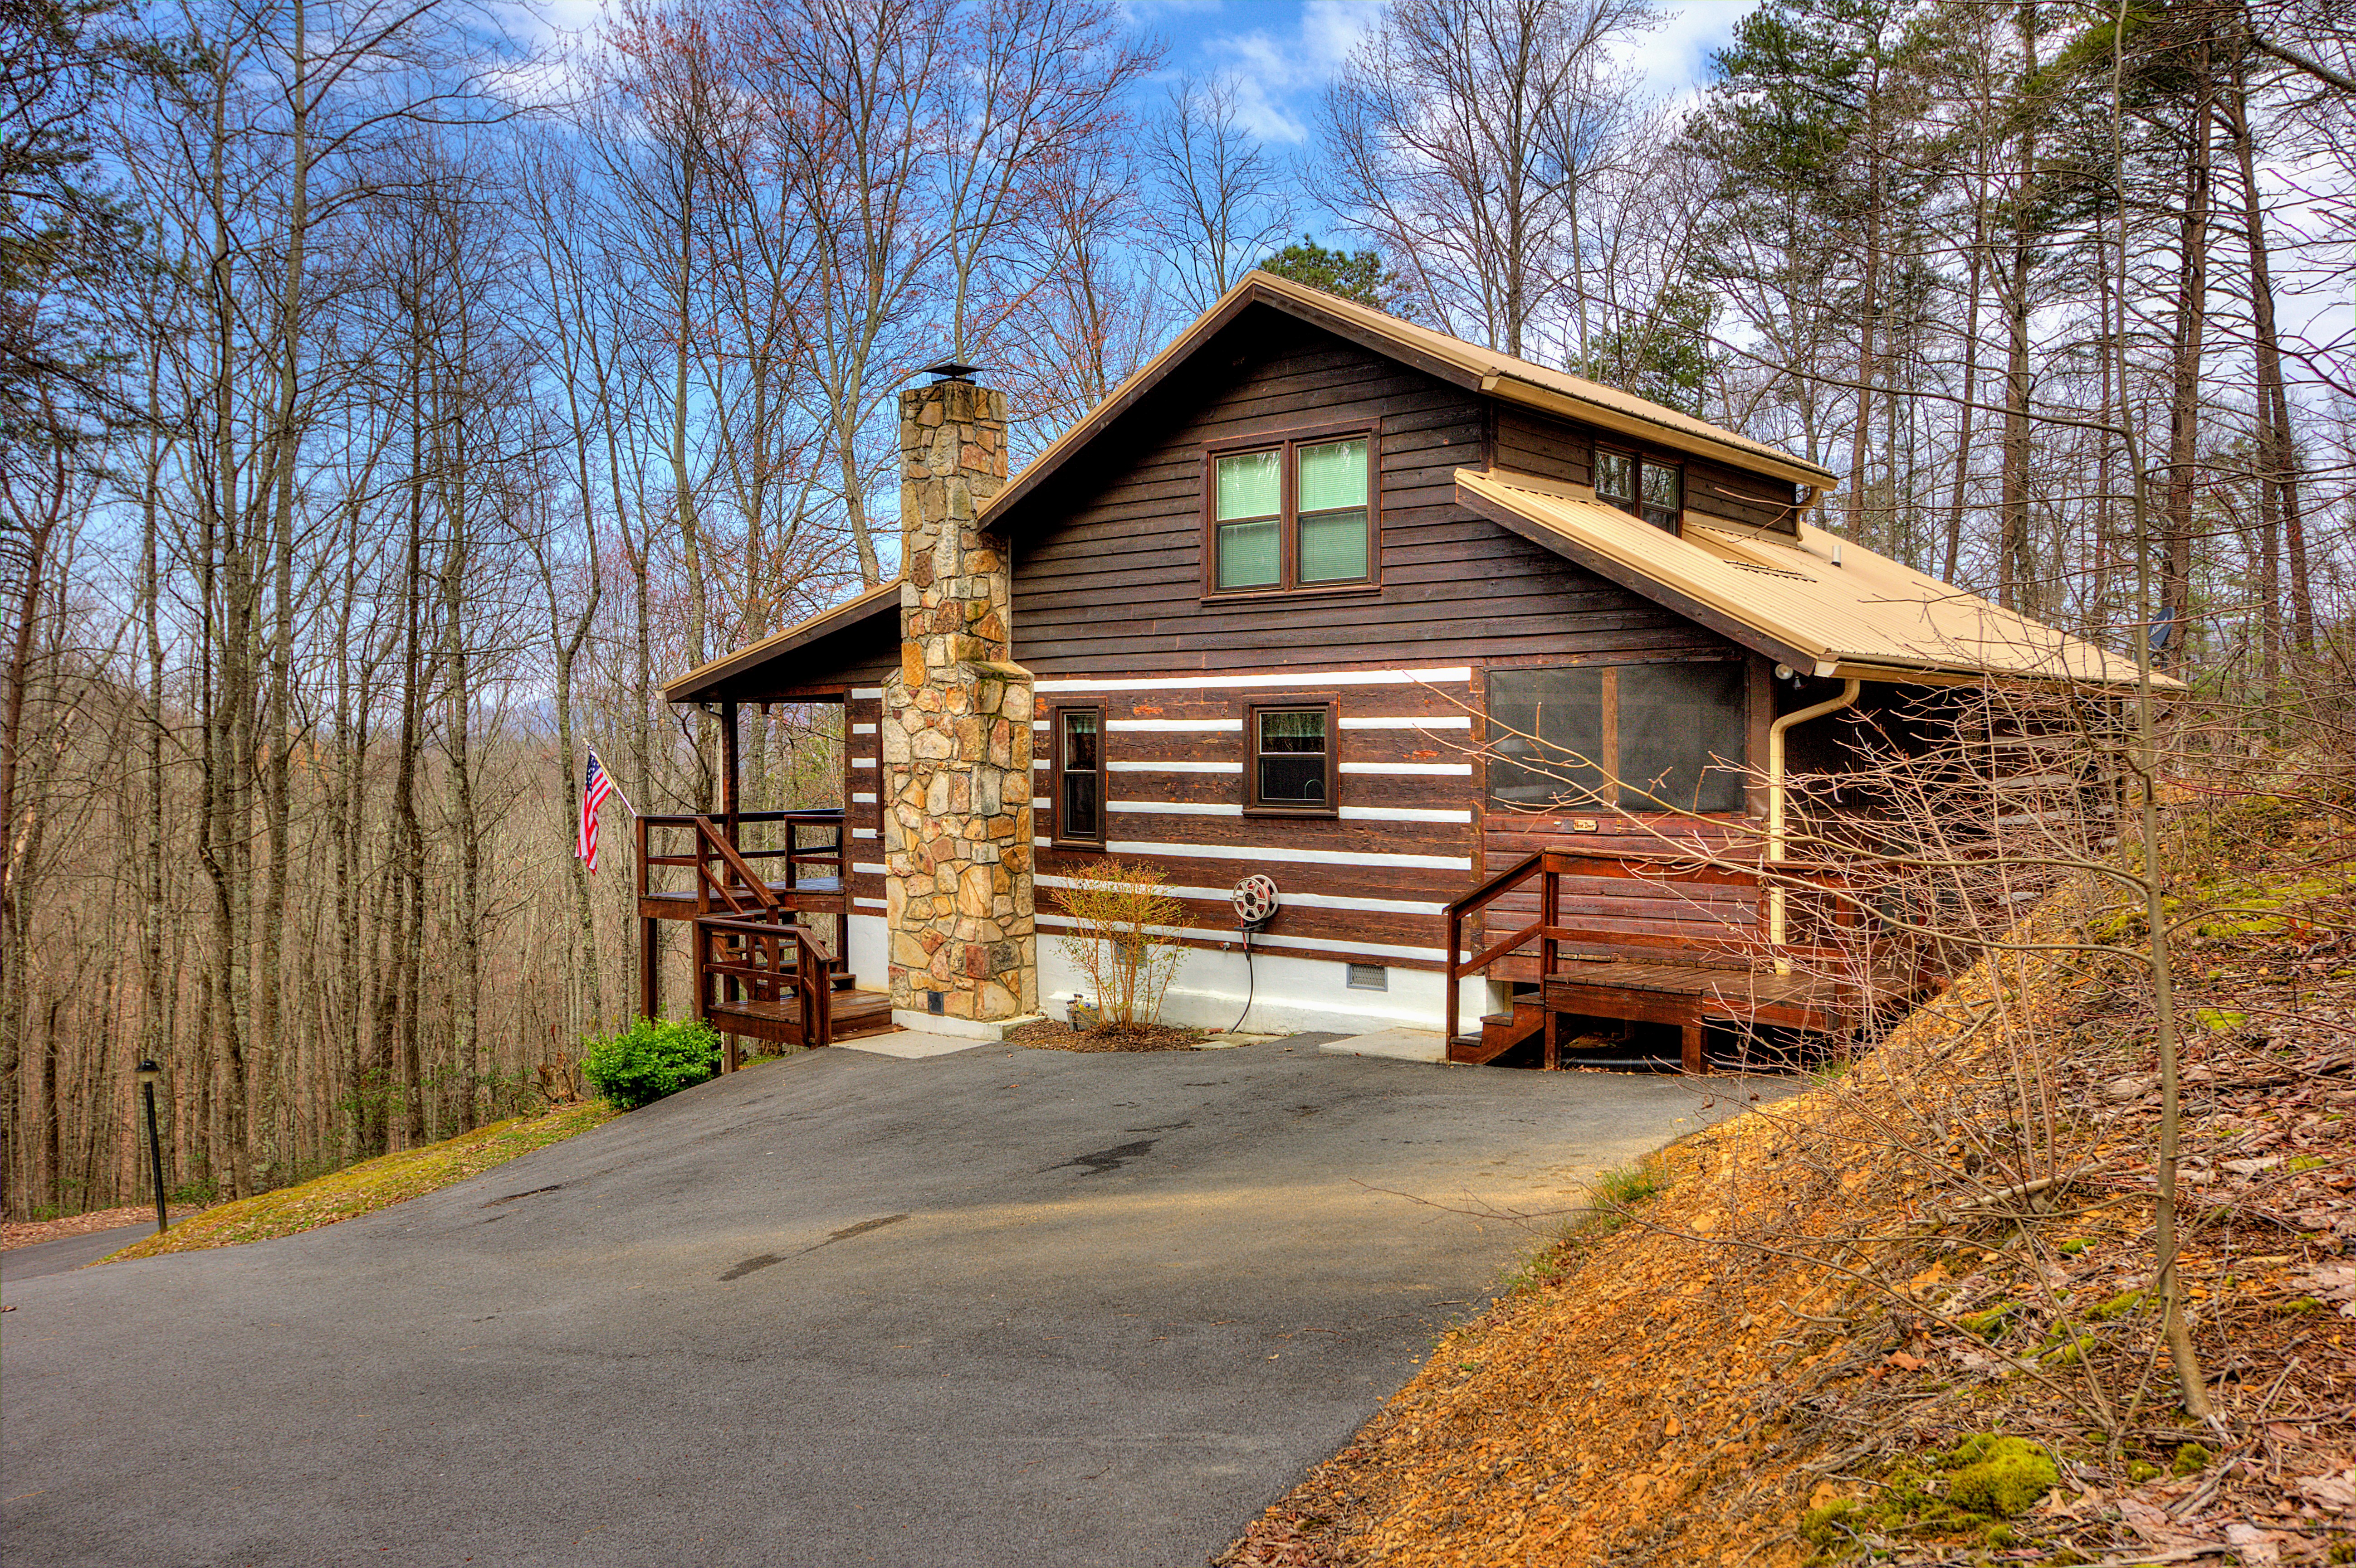
[[[1562,878],[1614,878],[1642,881],[1652,885],[1682,888],[1734,888],[1736,902],[1765,904],[1767,890],[1781,885],[1793,902],[1807,899],[1814,909],[1805,921],[1828,935],[1826,942],[1765,939],[1765,909],[1755,909],[1753,923],[1720,918],[1722,937],[1663,935],[1649,930],[1623,930],[1604,921],[1569,925],[1562,918]],[[1498,899],[1538,883],[1538,918],[1513,930],[1477,954],[1465,956],[1465,921],[1482,913]],[[1725,902],[1725,899],[1722,899]],[[1649,963],[1677,963],[1696,968],[1751,968],[1760,958],[1788,961],[1793,965],[1861,965],[1871,963],[1878,937],[1868,925],[1866,902],[1852,878],[1840,866],[1814,862],[1776,862],[1774,866],[1729,866],[1710,859],[1687,859],[1675,855],[1604,855],[1576,850],[1541,850],[1505,866],[1480,888],[1447,906],[1449,939],[1449,996],[1447,1038],[1456,1038],[1458,1001],[1456,989],[1465,975],[1477,975],[1501,958],[1531,944],[1538,949],[1538,982],[1553,979],[1564,958],[1635,958]]]

